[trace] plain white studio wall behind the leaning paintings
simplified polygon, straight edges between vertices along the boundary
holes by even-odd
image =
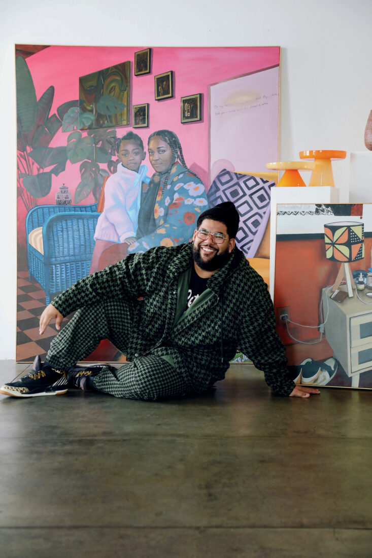
[[[340,201],[347,202],[349,153],[365,150],[364,127],[372,109],[371,24],[370,0],[310,0],[307,3],[297,0],[121,3],[12,0],[3,3],[0,21],[0,122],[3,130],[0,137],[0,359],[15,358],[15,43],[279,45],[282,47],[280,160],[298,160],[298,152],[306,149],[346,150],[347,159],[333,163],[333,174],[340,189]]]

